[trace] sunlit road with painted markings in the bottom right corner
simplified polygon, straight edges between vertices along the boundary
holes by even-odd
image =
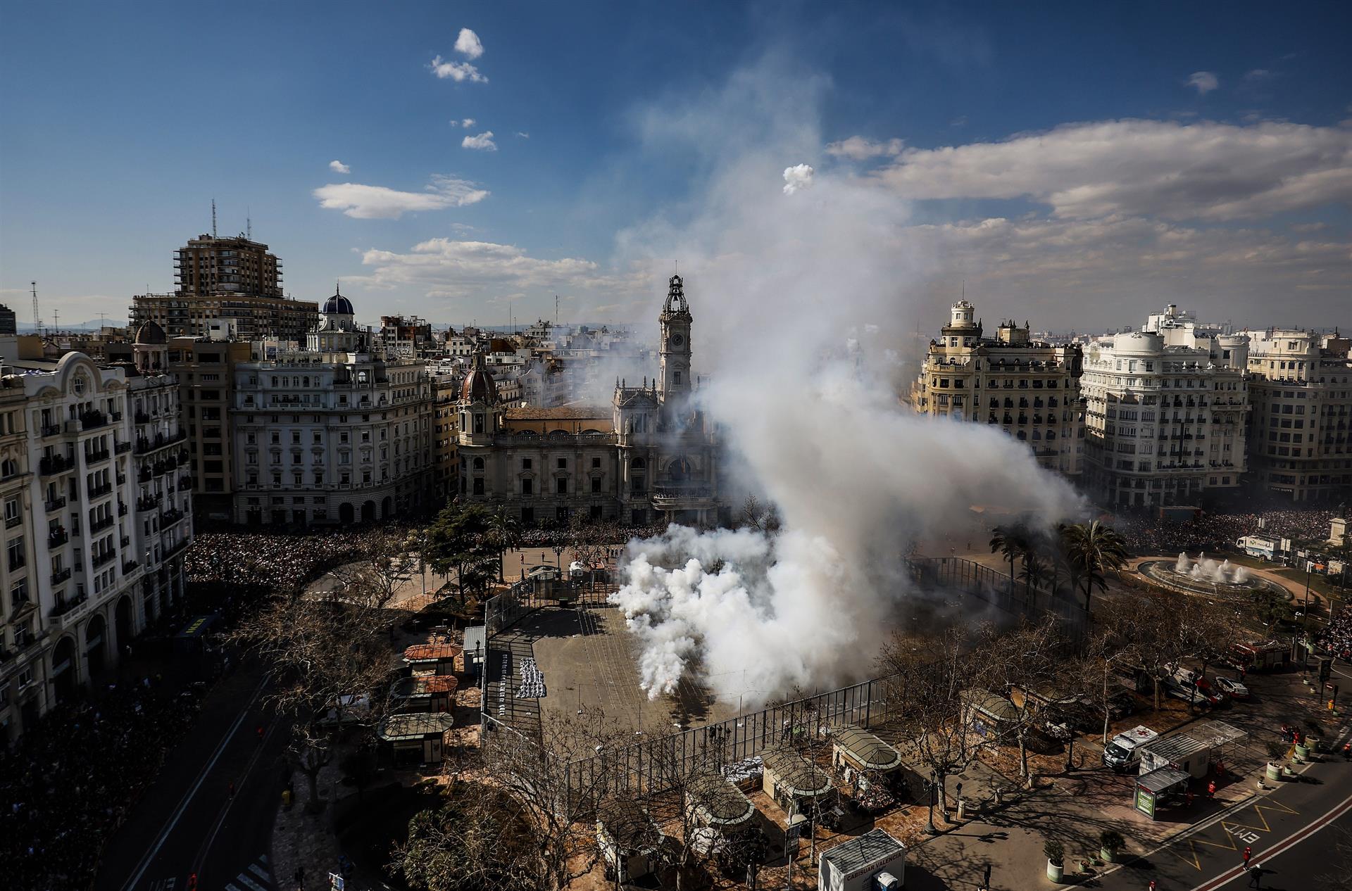
[[[1349,738],[1344,731],[1334,750]],[[1330,872],[1352,875],[1352,764],[1341,757],[1303,768],[1298,781],[1255,796],[1187,830],[1140,860],[1106,873],[1107,891],[1244,888],[1242,852],[1264,868],[1264,888],[1315,891]],[[1338,844],[1338,842],[1343,844]]]

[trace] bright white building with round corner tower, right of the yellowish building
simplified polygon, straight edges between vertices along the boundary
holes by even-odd
[[[1242,334],[1168,311],[1146,330],[1091,341],[1080,380],[1091,495],[1153,507],[1237,492],[1247,469],[1247,361]]]

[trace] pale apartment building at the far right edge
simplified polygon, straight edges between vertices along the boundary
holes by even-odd
[[[1352,361],[1347,341],[1311,331],[1248,331],[1253,484],[1279,502],[1352,495]]]

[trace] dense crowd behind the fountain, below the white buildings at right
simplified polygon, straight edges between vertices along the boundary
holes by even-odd
[[[1329,537],[1329,523],[1336,515],[1334,511],[1324,510],[1278,510],[1260,514],[1202,512],[1184,522],[1124,515],[1110,521],[1110,525],[1126,539],[1132,553],[1172,554],[1180,550],[1197,553],[1234,549],[1237,539],[1259,534],[1322,541]]]

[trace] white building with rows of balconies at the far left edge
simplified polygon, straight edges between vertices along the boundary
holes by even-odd
[[[183,596],[192,496],[176,485],[153,514],[138,500],[165,488],[154,488],[168,475],[161,437],[173,439],[177,420],[169,410],[146,439],[132,406],[172,404],[172,377],[74,352],[30,358],[41,356],[38,343],[5,346],[0,726],[14,740],[110,669],[122,645]]]

